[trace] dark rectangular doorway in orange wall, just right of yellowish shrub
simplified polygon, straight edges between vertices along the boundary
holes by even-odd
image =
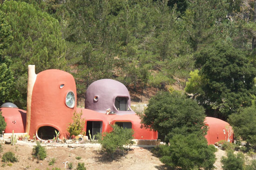
[[[102,132],[102,121],[87,121],[86,123],[86,136],[90,139],[89,135],[89,130],[90,134],[92,136],[92,139],[96,133],[101,133]],[[94,138],[96,139],[96,138]]]

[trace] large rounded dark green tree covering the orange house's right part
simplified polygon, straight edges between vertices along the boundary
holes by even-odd
[[[154,129],[168,142],[175,134],[203,135],[205,114],[196,101],[179,92],[159,92],[148,102],[148,108],[141,116],[145,128]]]

